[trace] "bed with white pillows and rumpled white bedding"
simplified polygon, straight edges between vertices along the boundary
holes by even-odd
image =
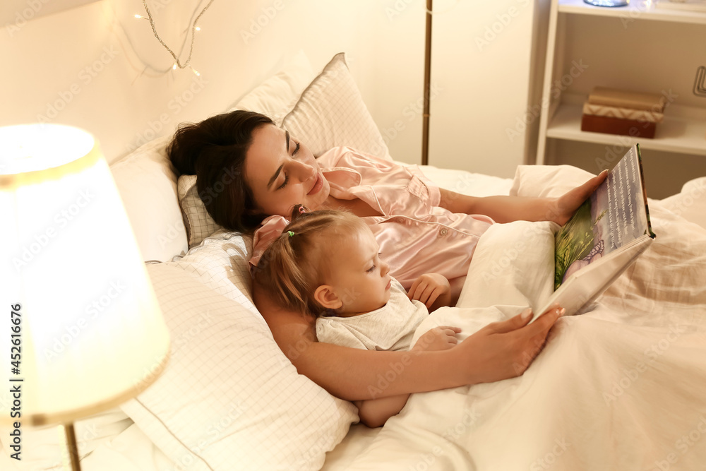
[[[391,158],[345,64],[316,75],[299,54],[234,107],[270,114],[318,155],[349,145]],[[229,107],[231,108],[231,107]],[[220,110],[217,110],[220,111]],[[169,364],[138,398],[76,423],[85,471],[695,470],[706,463],[706,178],[650,201],[657,239],[587,314],[562,318],[520,377],[414,394],[381,429],[298,375],[253,305],[252,240],[209,221],[167,138],[112,165],[172,334]],[[514,179],[436,167],[475,196],[556,196],[590,175],[522,166]],[[203,206],[203,205],[202,205]],[[460,339],[534,302],[551,280],[551,227],[495,225],[481,238],[448,324]],[[522,248],[522,249],[518,249]],[[4,441],[6,434],[0,435]],[[24,460],[61,467],[59,429],[25,432]],[[6,441],[5,441],[6,443]]]

